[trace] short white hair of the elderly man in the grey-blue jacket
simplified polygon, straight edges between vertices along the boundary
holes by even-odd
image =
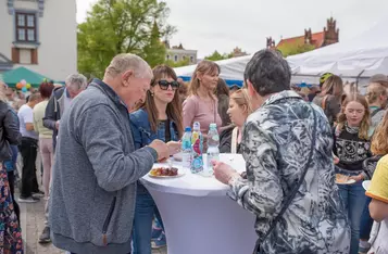
[[[152,78],[150,65],[140,56],[130,53],[117,54],[105,69],[105,75],[116,77],[126,71],[134,71],[135,77]]]

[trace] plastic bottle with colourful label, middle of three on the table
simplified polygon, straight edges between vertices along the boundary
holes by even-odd
[[[201,125],[196,122],[192,126],[191,134],[191,166],[192,174],[203,170],[203,136],[201,134]]]

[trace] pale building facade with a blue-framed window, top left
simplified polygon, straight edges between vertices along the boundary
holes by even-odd
[[[77,71],[75,0],[3,0],[0,24],[0,72],[25,66],[61,81]]]

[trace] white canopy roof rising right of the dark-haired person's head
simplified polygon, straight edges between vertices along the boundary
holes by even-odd
[[[361,82],[375,74],[388,74],[387,26],[385,20],[351,40],[287,58],[293,81],[317,81],[326,72]]]

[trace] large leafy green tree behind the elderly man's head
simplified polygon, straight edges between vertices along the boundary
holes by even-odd
[[[170,10],[157,0],[98,0],[78,25],[78,69],[102,77],[112,58],[135,53],[151,66],[164,63],[162,37],[176,31],[166,24]]]

